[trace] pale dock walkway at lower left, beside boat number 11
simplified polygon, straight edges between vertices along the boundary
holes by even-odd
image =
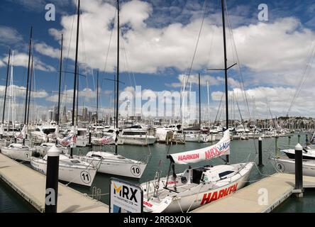
[[[40,212],[45,212],[46,176],[0,154],[0,179]],[[65,184],[58,186],[58,213],[109,213],[109,206],[77,192]]]

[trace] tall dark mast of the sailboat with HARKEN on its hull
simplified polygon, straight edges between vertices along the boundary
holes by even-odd
[[[228,58],[226,56],[226,20],[225,20],[225,6],[224,0],[221,0],[222,8],[222,28],[223,28],[223,48],[224,48],[224,76],[226,89],[226,130],[228,130]],[[226,155],[226,162],[229,162],[229,155]]]

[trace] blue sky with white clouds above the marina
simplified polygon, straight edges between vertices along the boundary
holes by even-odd
[[[28,36],[33,26],[34,57],[38,61],[35,67],[35,86],[37,91],[46,92],[38,96],[37,104],[51,108],[54,105],[53,91],[57,91],[60,33],[65,35],[65,57],[69,59],[66,71],[73,71],[74,31],[71,21],[74,18],[75,2],[72,0],[4,0],[0,3],[0,83],[4,85],[6,74],[5,57],[12,48],[16,55],[27,54]],[[228,0],[228,17],[233,28],[228,36],[228,62],[236,62],[236,53],[241,62],[245,90],[248,99],[255,99],[256,112],[267,114],[267,105],[277,115],[287,113],[289,102],[297,89],[297,82],[306,67],[307,56],[315,37],[314,1],[241,1]],[[56,6],[56,21],[45,21],[45,4]],[[258,5],[267,4],[269,20],[258,21]],[[211,106],[213,114],[219,106],[219,97],[223,92],[223,74],[207,72],[206,68],[220,67],[223,63],[221,40],[221,5],[218,0],[206,1],[204,26],[201,30],[196,59],[192,67],[193,90],[197,90],[197,77],[201,73],[211,84]],[[121,46],[121,80],[125,82],[121,89],[136,84],[154,92],[180,90],[180,75],[187,74],[192,62],[194,47],[201,26],[204,1],[121,1],[123,43]],[[87,78],[80,78],[80,90],[94,90],[96,70],[104,70],[106,55],[109,60],[106,72],[100,72],[101,78],[112,79],[116,66],[116,33],[109,52],[109,29],[114,20],[114,1],[82,0],[82,29],[80,36],[80,68],[87,72]],[[84,17],[83,15],[86,15]],[[104,21],[111,23],[104,23]],[[94,23],[95,21],[95,23]],[[107,22],[108,22],[107,21]],[[75,24],[75,23],[74,23]],[[74,25],[75,26],[75,25]],[[106,27],[107,26],[107,27]],[[70,33],[72,42],[70,45]],[[82,41],[84,40],[84,41]],[[235,42],[235,47],[233,46]],[[85,49],[85,50],[83,50]],[[69,55],[68,55],[69,51]],[[52,54],[50,54],[52,53]],[[126,56],[125,56],[126,53]],[[55,57],[52,55],[56,55]],[[25,62],[25,59],[23,59]],[[26,64],[14,67],[14,84],[26,86]],[[25,62],[26,63],[26,62]],[[90,69],[94,70],[94,78]],[[229,89],[235,92],[239,86],[241,74],[236,67],[229,71]],[[311,81],[313,67],[309,69],[307,81],[299,94],[292,115],[314,116],[315,111],[304,109],[312,105]],[[72,74],[65,74],[63,87],[73,87]],[[205,81],[202,84],[202,103],[206,104]],[[112,82],[101,82],[101,106],[109,107],[113,96]],[[71,92],[69,92],[70,94]],[[84,97],[85,96],[85,97]],[[245,102],[239,94],[239,102]],[[94,96],[82,92],[80,105],[95,106]],[[21,99],[23,103],[23,99]],[[250,104],[251,108],[252,104]],[[245,107],[244,107],[245,108]]]

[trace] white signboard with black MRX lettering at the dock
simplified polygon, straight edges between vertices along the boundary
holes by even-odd
[[[142,213],[143,190],[138,184],[111,178],[109,213]]]

